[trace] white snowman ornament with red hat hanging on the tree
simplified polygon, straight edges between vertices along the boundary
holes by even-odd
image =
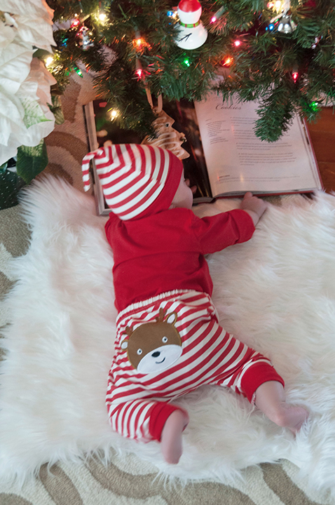
[[[182,49],[196,49],[207,39],[207,29],[200,21],[201,5],[198,0],[181,0],[178,4],[179,32],[175,39]]]

